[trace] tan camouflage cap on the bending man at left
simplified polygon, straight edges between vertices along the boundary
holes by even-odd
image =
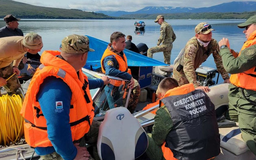
[[[42,37],[35,32],[29,32],[26,34],[22,44],[30,50],[38,50],[43,47]]]

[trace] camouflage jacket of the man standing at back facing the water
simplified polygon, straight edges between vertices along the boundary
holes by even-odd
[[[176,35],[172,30],[171,25],[168,24],[166,21],[164,21],[160,27],[160,37],[158,39],[157,45],[160,45],[161,43],[170,44],[174,42],[175,39],[176,39]]]

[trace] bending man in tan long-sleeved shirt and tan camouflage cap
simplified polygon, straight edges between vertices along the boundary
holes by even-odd
[[[8,94],[15,94],[21,87],[17,75],[20,74],[18,66],[24,54],[36,54],[42,47],[42,37],[34,32],[26,34],[25,37],[0,38],[0,87],[4,86]],[[15,72],[16,75],[6,81]]]

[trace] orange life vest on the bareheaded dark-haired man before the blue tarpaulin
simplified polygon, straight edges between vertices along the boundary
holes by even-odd
[[[123,58],[121,56],[119,56],[118,54],[110,51],[109,49],[106,49],[105,52],[103,53],[102,57],[101,57],[101,70],[103,73],[105,72],[105,67],[104,67],[104,58],[107,56],[111,56],[113,55],[115,57],[115,59],[118,62],[118,70],[122,71],[122,72],[128,72],[129,74],[131,74],[131,70],[128,69],[128,65],[127,65],[127,58],[125,56],[125,54],[123,53]],[[123,60],[124,59],[124,60]]]

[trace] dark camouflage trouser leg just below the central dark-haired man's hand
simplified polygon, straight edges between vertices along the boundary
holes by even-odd
[[[134,79],[134,87],[132,90],[133,93],[130,95],[129,103],[127,109],[133,114],[138,102],[139,102],[139,95],[140,95],[140,86],[139,82]]]

